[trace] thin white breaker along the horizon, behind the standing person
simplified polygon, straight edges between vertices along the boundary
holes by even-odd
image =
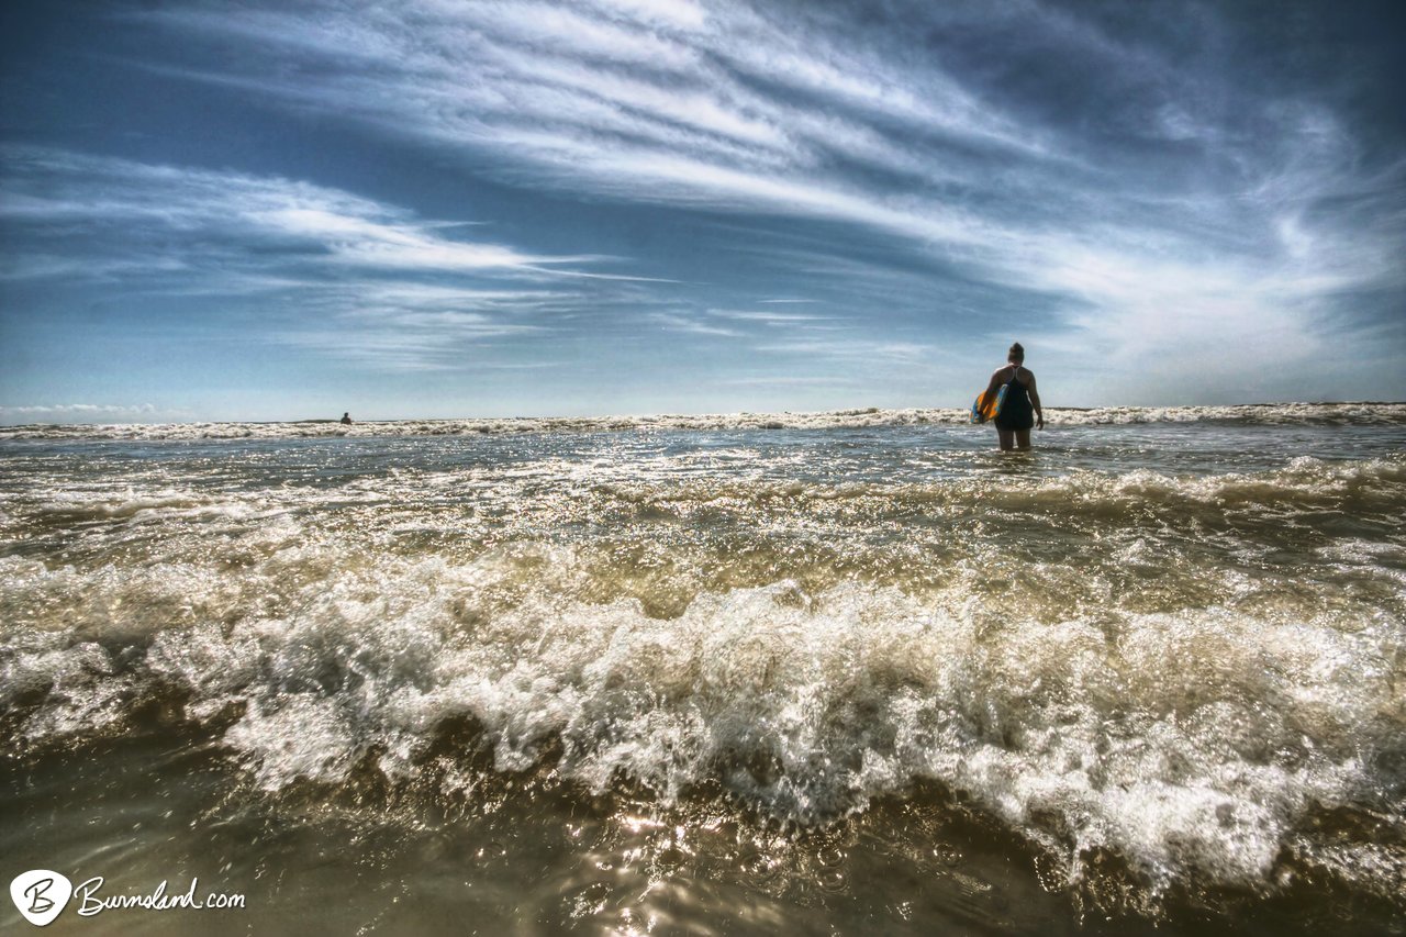
[[[1050,407],[1046,422],[1056,426],[1126,426],[1143,423],[1233,423],[1264,426],[1402,426],[1406,404],[1246,404],[1233,407]],[[838,409],[782,414],[704,414],[652,416],[519,416],[479,419],[368,421],[343,426],[336,421],[302,422],[188,422],[114,425],[0,426],[0,439],[318,439],[337,436],[474,436],[505,433],[593,433],[747,429],[865,429],[967,423],[967,411],[953,408]]]

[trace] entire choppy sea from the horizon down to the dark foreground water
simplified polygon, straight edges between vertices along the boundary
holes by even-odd
[[[1406,405],[0,428],[58,933],[1406,933]],[[0,922],[27,924],[13,906]]]

